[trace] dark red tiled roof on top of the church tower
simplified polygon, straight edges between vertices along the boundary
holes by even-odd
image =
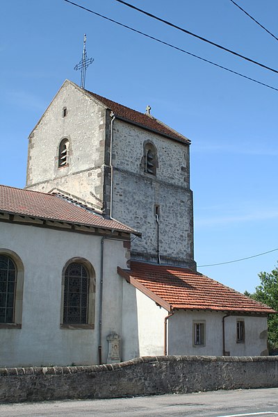
[[[95,99],[101,101],[101,103],[104,104],[104,106],[110,108],[117,117],[121,117],[124,120],[128,120],[129,122],[140,124],[141,126],[147,129],[151,129],[152,131],[161,133],[169,138],[179,140],[188,144],[190,143],[190,140],[188,140],[188,138],[182,136],[177,131],[174,131],[169,126],[167,126],[163,122],[160,122],[152,115],[140,113],[139,111],[132,110],[129,107],[116,103],[115,101],[106,99],[105,97],[101,97],[100,95],[95,94],[95,92],[90,92],[88,90],[86,91],[90,95],[92,95],[92,97],[95,97]]]

